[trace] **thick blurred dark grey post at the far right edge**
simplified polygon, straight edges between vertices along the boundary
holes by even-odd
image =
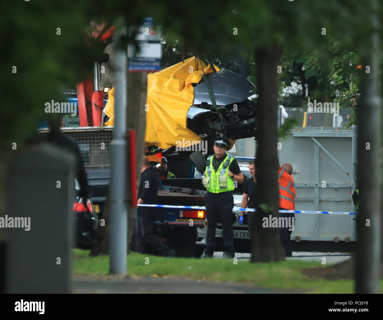
[[[376,32],[362,64],[362,92],[358,109],[357,254],[355,293],[379,293],[382,212],[382,101],[380,51]],[[366,73],[370,67],[370,73]],[[364,69],[364,70],[363,70]]]

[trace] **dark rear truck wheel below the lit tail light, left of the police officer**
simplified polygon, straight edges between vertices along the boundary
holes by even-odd
[[[196,250],[197,229],[175,228],[167,230],[167,245],[175,250],[175,256],[193,258]]]

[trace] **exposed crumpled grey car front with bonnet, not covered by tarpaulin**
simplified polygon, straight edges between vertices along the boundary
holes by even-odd
[[[194,87],[187,128],[204,140],[218,134],[233,140],[254,137],[255,103],[248,99],[253,94],[254,85],[237,73],[227,69],[210,73]]]

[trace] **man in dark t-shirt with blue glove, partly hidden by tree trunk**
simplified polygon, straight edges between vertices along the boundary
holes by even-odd
[[[255,162],[250,161],[249,163],[249,171],[250,175],[252,176],[252,179],[249,179],[245,182],[243,186],[243,197],[242,197],[242,202],[241,202],[241,207],[242,208],[255,208],[257,207],[257,195],[255,194]],[[243,216],[244,216],[244,211],[241,211],[239,214],[239,223],[243,224]],[[250,232],[250,237],[251,237],[251,224],[254,219],[254,211],[249,211],[247,212],[247,221],[249,225],[249,232]]]

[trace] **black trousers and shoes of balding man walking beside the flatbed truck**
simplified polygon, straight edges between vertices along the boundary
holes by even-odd
[[[135,250],[144,253],[144,243],[147,242],[161,255],[165,255],[169,253],[170,249],[159,237],[153,234],[154,221],[155,219],[138,215]]]

